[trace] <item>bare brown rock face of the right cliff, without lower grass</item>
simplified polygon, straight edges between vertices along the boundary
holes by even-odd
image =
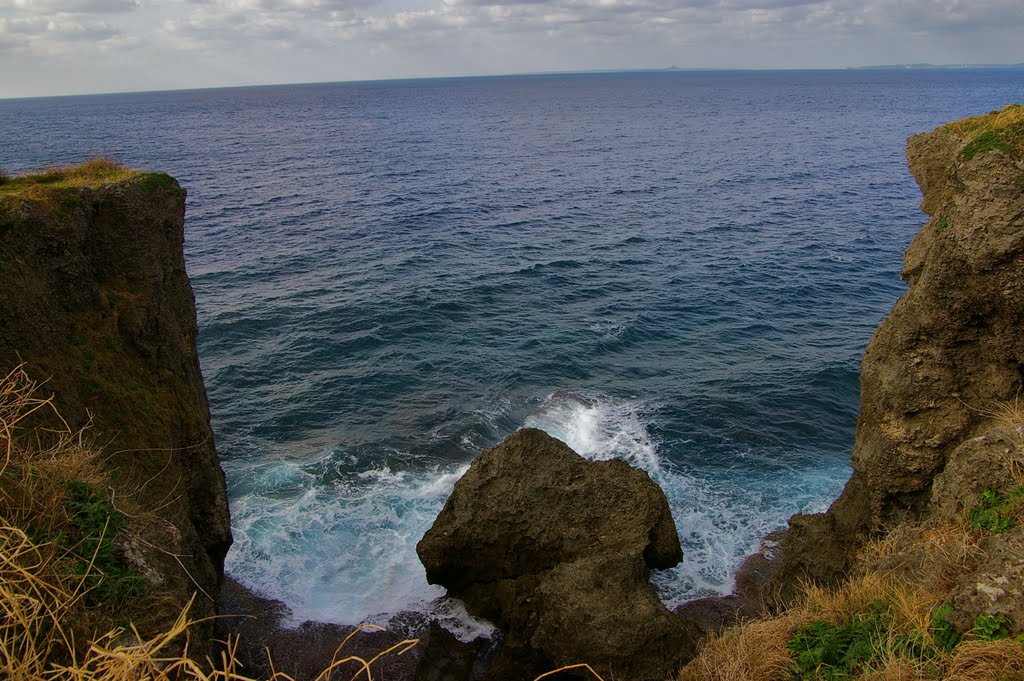
[[[791,520],[784,593],[844,573],[865,537],[1009,484],[998,462],[970,484],[952,471],[1024,386],[1024,108],[915,135],[906,155],[930,220],[906,250],[909,290],[864,353],[853,476],[827,513]]]

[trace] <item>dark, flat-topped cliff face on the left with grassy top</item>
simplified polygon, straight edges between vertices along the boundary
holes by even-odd
[[[119,543],[162,605],[156,619],[197,591],[193,615],[208,616],[231,537],[184,268],[185,195],[164,174],[114,175],[0,184],[0,369],[26,363],[68,425],[91,421],[115,505],[130,497],[141,510]]]

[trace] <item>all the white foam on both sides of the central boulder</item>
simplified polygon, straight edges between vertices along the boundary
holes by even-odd
[[[523,425],[547,431],[584,457],[624,459],[662,486],[685,553],[680,566],[652,578],[670,606],[728,593],[740,560],[762,537],[794,512],[821,510],[828,496],[822,491],[838,493],[846,477],[842,466],[770,471],[762,463],[775,455],[753,450],[734,453],[728,481],[721,468],[681,470],[664,459],[651,435],[654,408],[559,390]],[[412,610],[439,619],[463,640],[487,634],[489,625],[426,583],[416,555],[416,543],[467,466],[424,466],[410,455],[391,454],[392,463],[361,470],[361,455],[340,450],[313,460],[230,462],[236,543],[228,571],[288,603],[292,624],[383,624]]]

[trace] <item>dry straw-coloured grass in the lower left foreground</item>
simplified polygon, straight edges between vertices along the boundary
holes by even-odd
[[[111,623],[110,606],[86,603],[94,588],[89,585],[95,584],[89,577],[97,569],[96,555],[83,570],[75,547],[40,537],[58,536],[69,522],[63,506],[69,480],[99,485],[103,476],[83,433],[30,425],[41,411],[61,422],[52,401],[38,396],[38,386],[22,369],[0,380],[0,679],[255,681],[236,657],[238,641],[228,641],[218,659],[189,656],[189,632],[198,624],[189,607],[155,636],[144,637],[131,625],[100,627]],[[418,643],[407,639],[364,658],[344,653],[351,637],[341,642],[316,681],[373,681],[375,663]],[[280,672],[269,678],[293,681]]]

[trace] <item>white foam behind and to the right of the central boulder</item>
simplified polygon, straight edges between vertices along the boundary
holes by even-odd
[[[822,491],[845,479],[842,466],[775,474],[751,466],[732,481],[708,471],[683,471],[665,461],[650,434],[653,406],[593,392],[558,390],[524,425],[540,428],[593,460],[616,457],[641,468],[669,500],[685,554],[683,563],[654,573],[663,599],[675,606],[732,591],[741,560],[790,514],[822,510]],[[686,442],[684,442],[685,444]],[[741,459],[744,453],[736,453]],[[796,479],[795,479],[796,478]]]

